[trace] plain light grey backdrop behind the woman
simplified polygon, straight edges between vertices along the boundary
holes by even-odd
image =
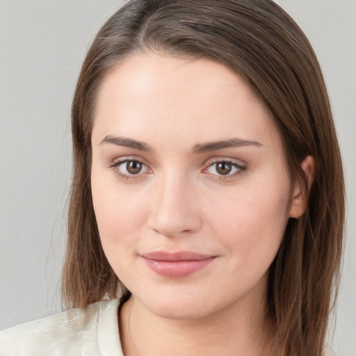
[[[124,1],[0,0],[0,329],[60,311],[70,104],[88,46]],[[332,347],[356,355],[356,1],[280,0],[321,62],[346,167]]]

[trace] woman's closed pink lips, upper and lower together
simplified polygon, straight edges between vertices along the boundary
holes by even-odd
[[[155,273],[163,277],[181,278],[208,266],[216,256],[186,251],[154,251],[142,254],[141,257]]]

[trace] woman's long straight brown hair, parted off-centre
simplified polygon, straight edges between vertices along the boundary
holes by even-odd
[[[285,356],[321,356],[343,249],[343,170],[318,60],[298,25],[271,0],[133,0],[99,31],[72,104],[65,305],[86,307],[104,296],[129,295],[100,243],[90,191],[90,136],[103,76],[145,51],[223,63],[268,107],[284,143],[289,175],[307,201],[305,213],[289,219],[270,266],[268,312],[275,350]],[[315,160],[310,187],[300,165],[308,155]]]

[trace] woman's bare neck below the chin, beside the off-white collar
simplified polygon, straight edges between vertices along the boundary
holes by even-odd
[[[131,297],[120,312],[124,355],[266,355],[266,299],[247,299],[208,316],[177,320]]]

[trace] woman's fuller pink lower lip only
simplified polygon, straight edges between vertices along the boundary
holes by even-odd
[[[215,257],[209,259],[193,259],[189,261],[157,261],[155,259],[143,260],[147,266],[158,275],[168,278],[182,278],[207,267]]]

